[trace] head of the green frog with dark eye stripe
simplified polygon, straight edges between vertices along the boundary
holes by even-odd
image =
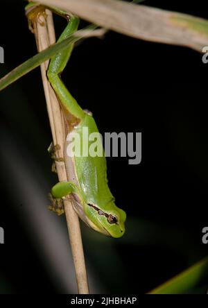
[[[88,223],[91,228],[110,237],[122,237],[125,232],[126,214],[116,207],[114,202],[106,206],[105,211],[97,205],[87,204]]]

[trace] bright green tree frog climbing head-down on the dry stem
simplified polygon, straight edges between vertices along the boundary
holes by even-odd
[[[26,6],[26,15],[37,6],[37,3],[29,3]],[[69,17],[69,14],[62,10],[57,8],[52,8],[52,10],[59,15]],[[30,17],[28,16],[28,18]],[[78,17],[71,16],[58,42],[75,32],[78,24]],[[60,74],[67,65],[72,50],[73,44],[70,44],[67,50],[51,58],[47,76],[62,106],[69,134],[78,132],[80,140],[83,140],[83,127],[88,128],[89,134],[98,132],[98,128],[92,114],[80,108],[60,79]],[[90,142],[88,143],[90,146]],[[65,149],[68,144],[69,142],[66,141]],[[81,144],[82,146],[85,144]],[[74,209],[80,219],[85,221],[90,228],[111,237],[121,237],[125,232],[126,214],[123,209],[116,207],[114,197],[107,185],[105,156],[69,157],[65,151],[64,162],[71,178],[69,182],[58,182],[51,189],[53,198],[60,200],[71,194]]]

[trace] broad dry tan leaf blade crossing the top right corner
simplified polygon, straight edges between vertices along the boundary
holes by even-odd
[[[189,46],[202,52],[208,41],[206,19],[118,0],[40,0],[125,35]]]

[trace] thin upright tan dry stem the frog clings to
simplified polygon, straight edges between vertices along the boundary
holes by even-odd
[[[39,22],[33,23],[35,39],[37,42],[38,51],[42,51],[55,42],[55,33],[53,27],[53,17],[49,10],[46,10],[46,16],[40,15]],[[44,93],[46,97],[47,110],[49,113],[49,121],[51,124],[51,132],[53,135],[53,144],[59,144],[60,150],[58,157],[64,157],[63,148],[66,137],[64,119],[60,109],[58,99],[53,92],[53,89],[46,78],[46,70],[49,61],[42,63],[42,82],[44,85]],[[67,173],[64,162],[55,162],[60,181],[67,180]],[[76,271],[76,280],[78,284],[78,293],[88,294],[87,272],[85,268],[85,257],[83,253],[83,243],[80,233],[80,223],[78,215],[74,212],[71,202],[64,200],[64,209],[67,218],[67,227],[69,230],[69,239],[71,243],[71,252]],[[70,275],[70,273],[69,273]]]

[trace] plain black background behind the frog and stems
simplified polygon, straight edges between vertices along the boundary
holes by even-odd
[[[205,1],[145,4],[208,18]],[[64,21],[55,17],[55,25],[60,33]],[[24,1],[1,1],[0,28],[3,76],[36,53]],[[142,132],[141,164],[107,159],[110,188],[129,218],[126,239],[109,239],[120,265],[107,257],[105,242],[98,252],[84,241],[89,263],[109,293],[147,292],[207,253],[202,244],[202,228],[207,226],[207,69],[202,54],[191,49],[110,32],[104,39],[91,38],[76,46],[62,74],[82,108],[92,110],[102,134]],[[1,92],[0,100],[1,131],[19,144],[27,168],[33,157],[53,185],[40,69]],[[3,140],[1,151],[6,151]],[[15,153],[10,160],[16,160]],[[4,164],[1,160],[0,226],[6,243],[0,247],[0,293],[61,293],[34,248],[35,234],[29,235],[17,215],[15,207],[21,205],[10,196],[16,187]]]

